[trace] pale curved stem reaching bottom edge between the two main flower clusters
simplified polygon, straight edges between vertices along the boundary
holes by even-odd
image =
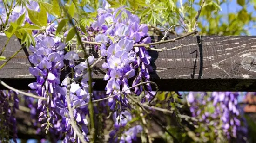
[[[71,101],[70,101],[70,78],[67,77],[67,108],[68,108],[68,114],[70,116],[70,124],[72,126],[72,128],[74,129],[74,132],[76,133],[76,135],[79,137],[80,141],[82,143],[86,143],[83,134],[81,133],[80,129],[78,128],[78,126],[75,123],[75,119],[74,119],[74,111],[71,107]]]

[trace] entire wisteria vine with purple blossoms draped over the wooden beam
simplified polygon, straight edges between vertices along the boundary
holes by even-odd
[[[190,138],[193,138],[191,131],[194,130],[195,141],[211,136],[205,135],[207,131],[215,135],[209,138],[218,141],[223,138],[247,141],[247,124],[238,106],[239,93],[213,92],[209,95],[207,92],[189,92],[186,98],[192,117],[179,111],[183,107],[188,109],[183,105],[180,93],[157,93],[157,85],[150,82],[153,68],[149,50],[155,49],[150,37],[152,33],[148,23],[141,20],[143,18],[139,18],[134,9],[125,6],[126,2],[118,5],[115,1],[103,0],[102,6],[90,12],[92,16],[78,14],[78,20],[78,1],[69,0],[65,5],[63,0],[49,3],[24,1],[0,0],[4,4],[0,5],[1,35],[6,35],[8,42],[11,37],[18,37],[22,44],[20,50],[28,50],[28,71],[35,81],[28,84],[31,89],[28,93],[31,94],[23,92],[27,96],[20,97],[23,105],[19,103],[18,89],[0,91],[0,143],[11,138],[17,143],[14,114],[19,106],[24,106],[24,112],[30,115],[30,124],[36,128],[36,133],[45,137],[50,134],[54,143],[59,140],[63,143],[132,143],[140,136],[144,143],[151,143],[150,119],[160,128],[159,134],[164,131],[162,136],[176,142],[180,135],[172,135],[172,128],[159,118],[159,115],[165,118],[166,114],[162,112],[171,114],[171,118],[177,115],[179,119],[174,118],[177,119],[177,130],[188,131]],[[82,6],[82,1],[79,2]],[[147,1],[144,6],[154,3]],[[154,9],[149,11],[153,13],[148,19],[159,22]],[[147,14],[149,11],[143,12]],[[198,17],[195,19],[194,29]],[[194,29],[177,39],[195,34]],[[0,60],[5,60],[2,54],[7,44],[0,53]],[[8,60],[4,62],[3,65]],[[99,65],[97,71],[104,75],[103,80],[107,83],[105,91],[94,90],[93,77],[98,76],[94,68],[99,68]],[[151,83],[156,85],[156,91]],[[155,111],[161,111],[161,114]],[[169,116],[167,118],[166,122],[169,122]],[[183,121],[193,127],[184,128]]]

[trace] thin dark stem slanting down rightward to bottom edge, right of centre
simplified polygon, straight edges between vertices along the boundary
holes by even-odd
[[[176,137],[174,137],[174,135],[173,135],[172,133],[170,133],[170,132],[166,129],[166,127],[164,127],[164,126],[159,122],[159,120],[157,120],[154,116],[152,116],[152,115],[150,114],[150,112],[148,112],[148,110],[146,110],[143,106],[141,106],[141,104],[140,104],[138,101],[136,101],[136,100],[135,100],[132,96],[130,96],[130,95],[127,95],[127,96],[128,96],[128,98],[131,99],[137,106],[139,106],[144,112],[146,112],[146,114],[148,114],[148,116],[149,116],[150,118],[152,118],[156,124],[158,124],[164,131],[166,131],[166,132],[173,138],[174,143],[180,143],[179,140],[178,140]]]

